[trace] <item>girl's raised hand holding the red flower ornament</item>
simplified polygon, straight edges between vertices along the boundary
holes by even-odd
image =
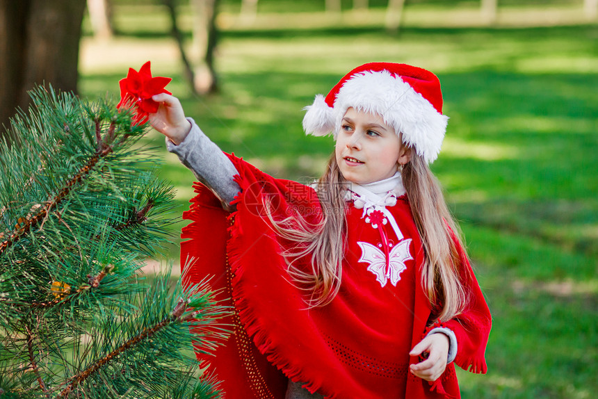
[[[186,120],[181,102],[166,93],[154,95],[152,99],[159,102],[160,107],[156,113],[149,114],[149,124],[176,145],[181,144],[191,131],[191,122]]]

